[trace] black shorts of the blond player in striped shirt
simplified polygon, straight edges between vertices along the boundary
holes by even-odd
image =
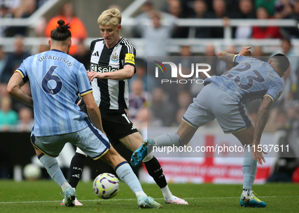
[[[99,109],[101,111],[103,129],[113,145],[120,143],[119,139],[138,132],[124,109]],[[80,104],[80,110],[87,114],[87,108],[84,103]]]

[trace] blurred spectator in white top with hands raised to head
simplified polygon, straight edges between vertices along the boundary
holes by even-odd
[[[163,16],[160,11],[150,11],[149,18],[140,19],[136,26],[144,38],[145,55],[167,56],[167,39],[170,38],[175,27],[175,18]]]

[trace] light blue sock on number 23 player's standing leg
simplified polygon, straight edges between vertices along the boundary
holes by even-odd
[[[252,189],[252,184],[257,174],[257,159],[253,160],[251,153],[251,145],[245,147],[245,155],[243,158],[243,189]]]

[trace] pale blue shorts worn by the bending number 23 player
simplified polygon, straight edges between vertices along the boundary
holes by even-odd
[[[251,125],[244,105],[211,82],[193,99],[182,119],[198,128],[215,118],[226,134],[244,130]]]

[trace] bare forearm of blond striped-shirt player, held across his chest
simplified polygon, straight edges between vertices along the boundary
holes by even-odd
[[[135,67],[129,64],[125,65],[123,69],[114,71],[114,72],[95,72],[91,71],[88,72],[88,77],[92,82],[94,78],[98,79],[113,79],[113,80],[124,80],[124,79],[131,79],[134,74]]]

